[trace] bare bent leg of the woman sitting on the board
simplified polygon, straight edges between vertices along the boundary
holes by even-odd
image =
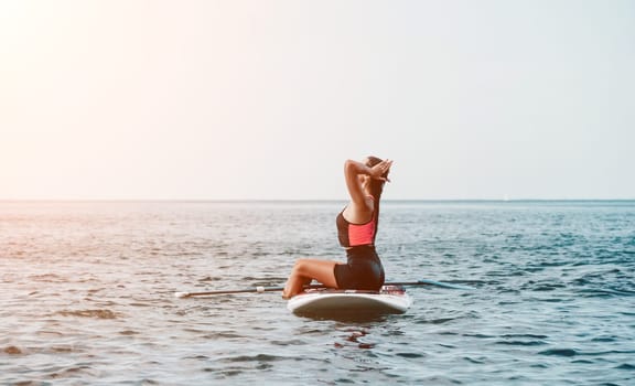
[[[282,298],[289,299],[302,292],[302,287],[315,279],[326,287],[337,288],[335,280],[335,261],[319,259],[299,259],[295,261]]]

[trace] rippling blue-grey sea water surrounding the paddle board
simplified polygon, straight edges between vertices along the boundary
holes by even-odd
[[[342,202],[0,202],[1,385],[635,385],[635,202],[385,202],[401,315],[278,292]]]

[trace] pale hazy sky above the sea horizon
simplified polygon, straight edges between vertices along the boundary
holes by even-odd
[[[635,199],[635,1],[0,0],[0,200]]]

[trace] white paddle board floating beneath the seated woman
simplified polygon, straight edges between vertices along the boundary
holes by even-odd
[[[308,289],[287,302],[295,314],[403,313],[412,300],[401,286],[384,286],[379,291]]]

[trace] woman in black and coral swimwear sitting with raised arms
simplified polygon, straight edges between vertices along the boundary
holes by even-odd
[[[344,175],[351,202],[337,215],[337,236],[346,248],[346,264],[299,259],[289,276],[282,298],[302,292],[312,280],[338,289],[378,290],[384,285],[384,267],[375,251],[379,223],[379,200],[392,161],[368,157],[363,162],[346,161]]]

